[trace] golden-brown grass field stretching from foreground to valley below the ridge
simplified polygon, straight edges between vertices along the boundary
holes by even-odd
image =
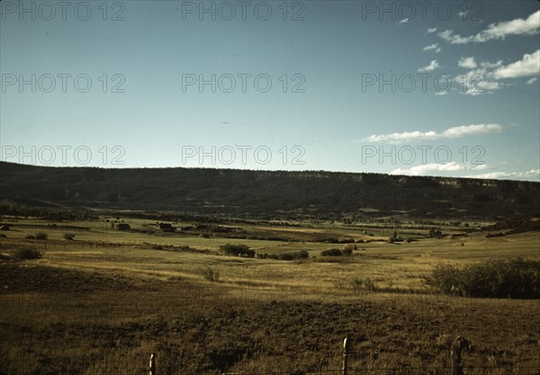
[[[421,282],[437,263],[537,258],[537,232],[358,243],[354,256],[338,260],[320,256],[338,244],[122,232],[103,218],[56,228],[12,221],[0,252],[26,244],[43,256],[0,261],[0,374],[142,374],[150,353],[157,353],[157,374],[338,374],[346,335],[355,343],[349,373],[449,373],[456,335],[474,345],[464,353],[466,374],[540,372],[540,301],[438,296]],[[135,229],[150,223],[125,222]],[[363,228],[338,225],[248,230],[365,236]],[[369,230],[384,238],[393,229]],[[39,231],[49,238],[26,239]],[[75,240],[65,240],[66,232]],[[306,250],[310,258],[221,255],[227,243],[267,254]],[[205,277],[209,270],[216,281]],[[359,287],[359,279],[374,289]]]

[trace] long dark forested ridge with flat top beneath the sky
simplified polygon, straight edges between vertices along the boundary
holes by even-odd
[[[492,218],[536,214],[540,183],[388,174],[0,163],[0,198],[27,205],[255,216]]]

